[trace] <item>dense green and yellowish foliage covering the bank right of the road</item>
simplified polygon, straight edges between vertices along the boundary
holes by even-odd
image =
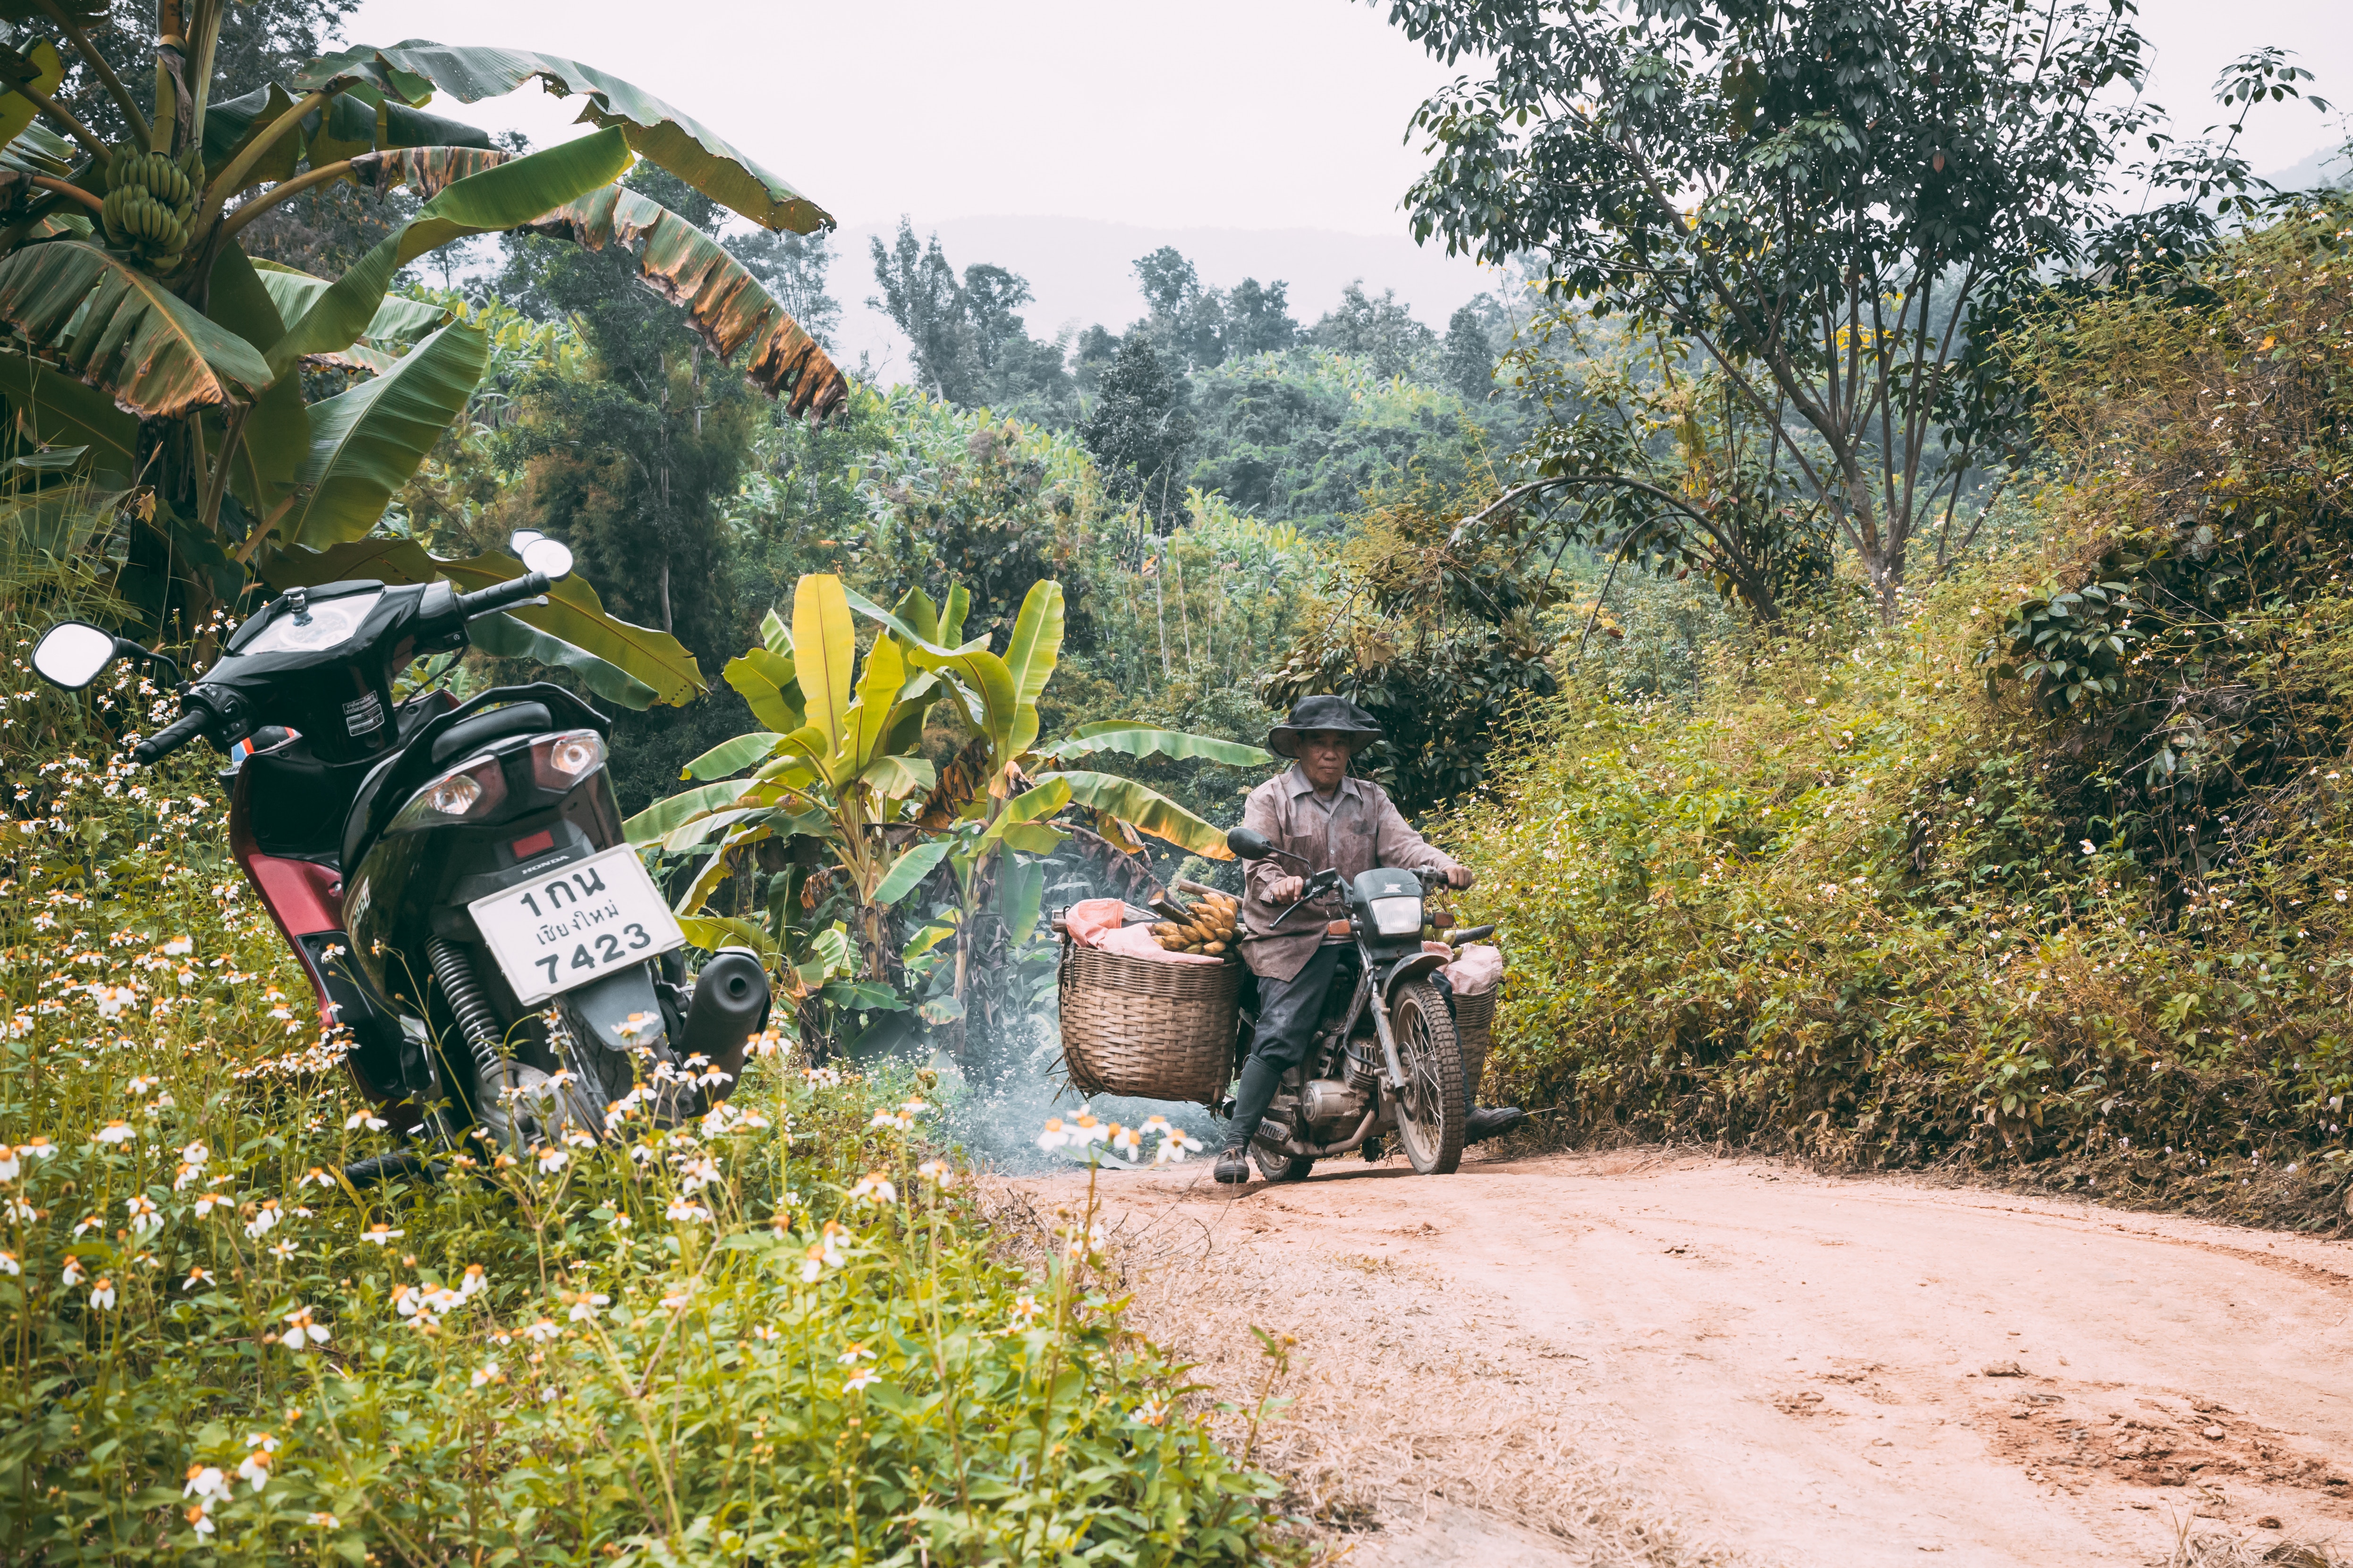
[[[1515,1088],[1833,1161],[2341,1161],[2344,221],[2012,346],[2064,473],[2038,541],[1892,628],[1833,599],[1725,637],[1697,696],[1529,710],[1452,827]]]

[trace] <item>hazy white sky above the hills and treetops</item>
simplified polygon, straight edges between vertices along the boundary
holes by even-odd
[[[732,139],[847,223],[913,214],[1089,216],[1155,228],[1402,233],[1419,169],[1402,143],[1447,73],[1353,0],[362,0],[353,42],[532,47],[600,66]],[[2346,0],[2146,0],[2151,96],[2191,132],[2217,68],[2280,42],[2353,101]],[[445,106],[456,110],[456,106]],[[456,110],[572,134],[555,99]],[[2344,136],[2268,106],[2257,169]]]

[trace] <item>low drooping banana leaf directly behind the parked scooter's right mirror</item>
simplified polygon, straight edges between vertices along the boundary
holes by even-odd
[[[278,590],[348,578],[384,583],[433,583],[447,578],[461,590],[473,592],[518,576],[522,576],[522,562],[511,555],[440,559],[426,555],[424,545],[414,538],[360,538],[332,550],[289,545],[264,550],[261,557],[261,578]],[[656,703],[678,705],[708,691],[701,670],[694,665],[694,654],[685,644],[668,632],[631,625],[605,614],[602,599],[598,599],[595,588],[586,578],[567,576],[548,590],[546,604],[511,609],[506,614],[645,682]]]

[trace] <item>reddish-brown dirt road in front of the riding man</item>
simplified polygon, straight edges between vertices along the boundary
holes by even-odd
[[[1353,1563],[2353,1542],[2346,1244],[1657,1154],[1104,1192],[1224,1399],[1266,1382],[1252,1324],[1299,1340],[1261,1458],[1381,1526],[1329,1537]]]

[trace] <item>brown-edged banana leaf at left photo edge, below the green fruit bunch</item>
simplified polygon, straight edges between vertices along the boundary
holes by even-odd
[[[141,418],[252,402],[275,381],[252,343],[82,240],[0,256],[0,320]]]

